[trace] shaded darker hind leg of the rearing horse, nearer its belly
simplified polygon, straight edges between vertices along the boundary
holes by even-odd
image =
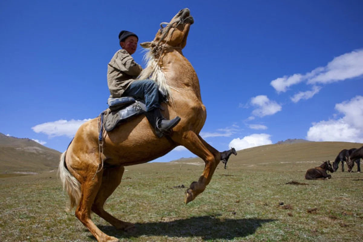
[[[92,205],[92,211],[99,217],[111,223],[117,229],[130,230],[134,228],[134,224],[118,220],[103,209],[103,205],[107,198],[111,196],[117,186],[121,183],[124,171],[124,167],[106,168],[103,171],[102,184]]]

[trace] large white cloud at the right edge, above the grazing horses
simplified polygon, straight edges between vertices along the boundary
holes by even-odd
[[[313,123],[306,139],[363,143],[363,97],[356,96],[350,101],[338,103],[335,109],[343,114],[343,117]]]

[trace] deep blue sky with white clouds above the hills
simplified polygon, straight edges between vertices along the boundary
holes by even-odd
[[[107,108],[118,33],[151,41],[185,7],[184,56],[223,151],[286,139],[363,143],[362,1],[1,1],[0,132],[63,152]],[[139,46],[133,55],[142,66]],[[195,156],[178,147],[157,161]]]

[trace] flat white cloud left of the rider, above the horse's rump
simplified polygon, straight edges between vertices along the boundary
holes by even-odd
[[[83,120],[58,120],[54,122],[42,123],[32,127],[32,130],[36,133],[43,133],[48,135],[49,137],[56,137],[56,136],[68,136],[72,138],[79,126],[90,119],[83,119]]]

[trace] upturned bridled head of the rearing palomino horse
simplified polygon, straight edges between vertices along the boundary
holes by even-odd
[[[140,45],[143,48],[155,48],[167,44],[168,46],[183,49],[187,44],[190,25],[194,23],[193,17],[187,8],[181,9],[170,22],[162,22],[160,29],[151,42]],[[163,25],[166,25],[165,27]]]

